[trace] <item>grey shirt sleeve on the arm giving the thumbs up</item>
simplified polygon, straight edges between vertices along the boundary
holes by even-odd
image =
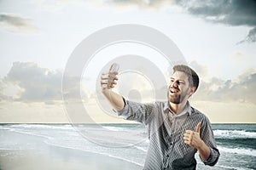
[[[205,165],[214,166],[218,162],[219,151],[213,136],[211,123],[206,118],[201,127],[201,139],[209,146],[211,154],[207,160],[201,160]],[[201,157],[201,156],[200,156]]]

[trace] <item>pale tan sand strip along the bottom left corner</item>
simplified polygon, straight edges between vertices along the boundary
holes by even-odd
[[[127,161],[77,150],[0,150],[1,170],[118,170],[139,169]]]

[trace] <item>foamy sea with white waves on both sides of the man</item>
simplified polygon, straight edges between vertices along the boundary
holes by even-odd
[[[256,124],[212,124],[212,130],[220,151],[218,163],[204,166],[196,154],[197,169],[256,169]],[[44,148],[27,137],[38,138],[47,146],[109,156],[142,168],[149,144],[146,128],[137,123],[0,124],[0,150]]]

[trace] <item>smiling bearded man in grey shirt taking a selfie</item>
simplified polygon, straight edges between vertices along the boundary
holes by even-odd
[[[199,77],[187,65],[175,65],[166,102],[140,104],[126,100],[111,89],[117,72],[102,74],[102,94],[119,116],[143,122],[148,128],[149,147],[144,170],[195,169],[198,150],[205,165],[214,166],[219,152],[207,116],[189,105]]]

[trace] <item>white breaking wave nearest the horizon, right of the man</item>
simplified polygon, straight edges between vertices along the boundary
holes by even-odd
[[[216,139],[256,139],[255,132],[245,130],[214,130]]]

